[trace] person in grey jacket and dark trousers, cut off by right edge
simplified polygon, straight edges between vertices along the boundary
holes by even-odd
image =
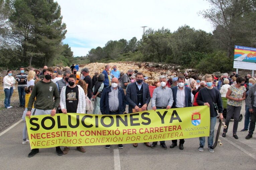
[[[249,134],[245,137],[245,139],[252,138],[252,134],[255,129],[256,122],[256,84],[251,86],[249,89],[248,96],[246,97],[246,105],[249,108],[249,112],[251,113],[251,121],[249,126]]]

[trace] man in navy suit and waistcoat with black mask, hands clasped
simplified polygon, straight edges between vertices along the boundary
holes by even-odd
[[[139,108],[143,111],[147,110],[151,97],[148,84],[143,83],[143,74],[141,72],[136,73],[136,82],[127,86],[125,99],[129,103],[129,113],[132,113],[133,108],[136,112],[139,111]],[[145,145],[151,146],[149,142],[145,142]],[[133,146],[137,147],[138,144],[134,143]]]

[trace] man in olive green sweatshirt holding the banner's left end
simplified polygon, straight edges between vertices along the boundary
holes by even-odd
[[[44,75],[45,78],[40,80],[35,86],[29,97],[26,116],[31,115],[31,109],[36,97],[34,115],[50,114],[54,116],[59,105],[60,97],[55,83],[51,81],[53,70],[48,68]],[[54,100],[53,100],[54,97]],[[32,149],[28,157],[32,157],[39,152],[39,149]],[[56,152],[59,156],[63,154],[60,147],[56,147]]]

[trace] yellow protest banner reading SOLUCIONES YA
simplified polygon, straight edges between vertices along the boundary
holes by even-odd
[[[141,143],[209,136],[208,106],[121,115],[56,114],[26,117],[30,147]]]

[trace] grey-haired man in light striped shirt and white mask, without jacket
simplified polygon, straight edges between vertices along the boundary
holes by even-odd
[[[160,76],[160,87],[157,87],[153,91],[153,96],[151,98],[152,109],[169,109],[173,103],[172,90],[169,87],[166,87],[166,76]],[[156,147],[157,142],[151,144],[151,148]],[[165,141],[160,141],[160,146],[163,149],[167,149]]]

